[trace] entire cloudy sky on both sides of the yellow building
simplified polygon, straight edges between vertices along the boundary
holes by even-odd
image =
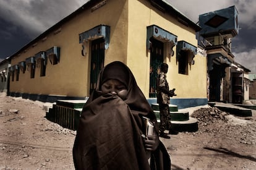
[[[255,0],[165,0],[189,19],[236,6],[239,35],[232,40],[235,61],[256,73],[256,1]],[[87,0],[0,0],[0,61],[74,12]]]

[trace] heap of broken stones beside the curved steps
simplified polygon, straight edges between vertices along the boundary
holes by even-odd
[[[191,117],[196,118],[199,124],[208,125],[214,124],[216,122],[227,122],[228,119],[226,116],[228,114],[229,113],[223,112],[220,109],[213,107],[198,109],[192,113]]]

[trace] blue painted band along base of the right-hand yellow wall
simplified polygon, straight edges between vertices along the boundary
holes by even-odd
[[[156,98],[148,98],[148,103],[151,105],[156,103]],[[203,106],[208,104],[207,98],[171,98],[171,104],[174,104],[178,109],[191,108],[195,106]]]

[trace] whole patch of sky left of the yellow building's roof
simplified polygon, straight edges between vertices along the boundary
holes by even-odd
[[[17,52],[86,1],[1,0],[0,58]]]

